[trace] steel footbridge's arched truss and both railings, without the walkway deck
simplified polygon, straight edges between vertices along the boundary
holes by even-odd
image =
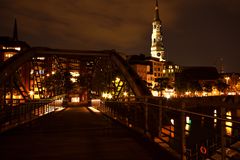
[[[239,158],[238,96],[154,98],[124,55],[114,50],[30,48],[0,67],[4,135],[41,117],[50,121],[53,113],[77,104],[94,107],[176,159]],[[83,111],[77,106],[70,110]]]

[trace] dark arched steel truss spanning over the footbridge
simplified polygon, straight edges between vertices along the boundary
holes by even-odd
[[[0,68],[0,112],[65,95],[66,101],[116,100],[150,95],[138,75],[114,50],[30,48]],[[107,96],[106,96],[107,95]],[[2,120],[1,123],[5,123]]]

